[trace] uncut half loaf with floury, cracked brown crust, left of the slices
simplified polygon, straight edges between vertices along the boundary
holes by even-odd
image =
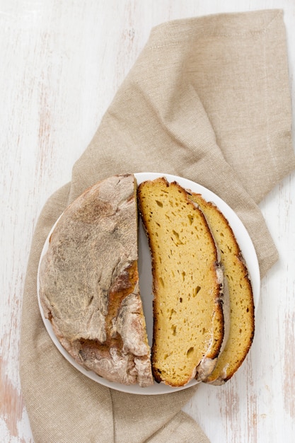
[[[40,301],[76,362],[122,384],[154,384],[139,296],[133,175],[83,192],[57,223],[40,265]]]

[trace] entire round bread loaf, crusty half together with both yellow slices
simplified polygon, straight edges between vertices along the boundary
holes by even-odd
[[[152,260],[152,350],[139,294],[138,209]],[[57,222],[39,279],[59,342],[117,383],[223,384],[253,340],[253,292],[231,226],[216,205],[164,177],[137,189],[132,174],[113,176],[83,192]]]

